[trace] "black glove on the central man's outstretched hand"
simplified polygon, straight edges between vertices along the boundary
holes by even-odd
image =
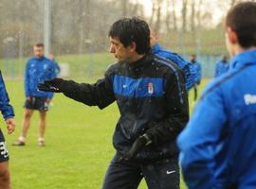
[[[37,87],[40,91],[61,93],[64,88],[64,79],[53,78],[51,80],[45,80],[43,83],[39,83]]]

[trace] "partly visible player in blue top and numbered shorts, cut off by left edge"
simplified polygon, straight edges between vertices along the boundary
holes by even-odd
[[[9,95],[6,91],[5,82],[0,72],[0,111],[7,124],[8,133],[15,129],[14,111],[9,105]],[[10,189],[9,181],[9,153],[5,137],[0,129],[0,188]]]

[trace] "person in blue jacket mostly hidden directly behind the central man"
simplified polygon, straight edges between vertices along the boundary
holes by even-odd
[[[171,60],[183,70],[185,74],[186,90],[189,91],[196,84],[197,75],[196,75],[195,68],[193,67],[191,62],[184,60],[177,53],[174,53],[170,50],[163,49],[158,43],[158,39],[159,39],[158,35],[155,33],[153,29],[151,29],[150,45],[153,53],[161,58]]]

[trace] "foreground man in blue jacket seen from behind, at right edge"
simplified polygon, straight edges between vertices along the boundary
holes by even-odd
[[[229,10],[229,72],[213,79],[178,137],[190,189],[256,188],[256,3]]]

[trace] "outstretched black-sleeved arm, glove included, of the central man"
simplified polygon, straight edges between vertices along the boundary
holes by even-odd
[[[112,78],[109,72],[94,84],[54,78],[40,84],[39,89],[42,91],[61,92],[76,101],[88,106],[98,106],[100,109],[115,101]]]

